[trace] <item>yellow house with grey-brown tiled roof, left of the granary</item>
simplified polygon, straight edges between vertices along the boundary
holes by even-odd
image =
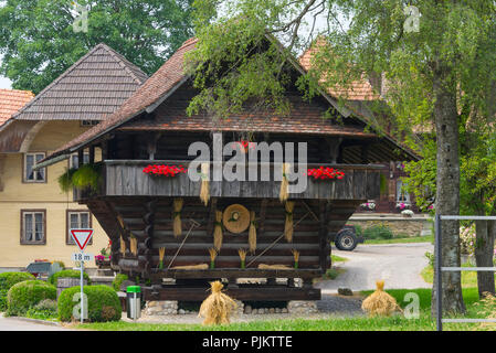
[[[72,267],[71,254],[77,246],[71,228],[94,229],[86,253],[97,255],[107,247],[108,237],[87,207],[59,186],[59,176],[77,164],[77,156],[40,170],[33,167],[104,120],[146,79],[137,66],[98,44],[0,121],[0,271],[24,268],[35,259],[62,260]]]

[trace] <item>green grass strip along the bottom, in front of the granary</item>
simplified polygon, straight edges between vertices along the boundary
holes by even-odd
[[[363,292],[369,295],[371,291]],[[395,289],[388,290],[399,304],[404,308],[408,302],[403,301],[408,292],[419,295],[421,314],[419,319],[405,319],[401,314],[391,318],[337,318],[326,319],[282,319],[271,321],[252,321],[244,323],[232,323],[220,327],[203,327],[200,324],[151,324],[129,322],[86,323],[76,325],[81,329],[98,331],[433,331],[435,321],[430,317],[431,290],[430,289]],[[467,318],[482,318],[482,310],[476,303],[478,301],[477,288],[463,289]],[[474,323],[445,323],[445,330],[472,331],[494,330],[495,325],[482,328]]]

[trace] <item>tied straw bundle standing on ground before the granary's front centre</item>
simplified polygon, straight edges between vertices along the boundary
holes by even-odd
[[[220,281],[210,282],[212,293],[203,300],[198,317],[204,318],[203,324],[223,324],[231,322],[231,315],[238,309],[236,302],[222,292]]]

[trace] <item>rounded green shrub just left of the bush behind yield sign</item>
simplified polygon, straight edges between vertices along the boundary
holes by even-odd
[[[56,288],[42,280],[25,280],[13,285],[7,296],[7,314],[22,315],[43,299],[55,299]]]

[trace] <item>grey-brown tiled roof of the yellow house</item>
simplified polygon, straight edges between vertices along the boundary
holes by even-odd
[[[147,75],[106,44],[98,44],[12,117],[17,120],[104,120]]]

